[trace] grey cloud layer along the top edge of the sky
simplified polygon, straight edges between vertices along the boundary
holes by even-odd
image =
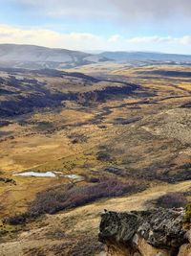
[[[135,20],[162,20],[175,16],[191,18],[190,0],[7,0],[22,10],[52,16],[102,17]]]

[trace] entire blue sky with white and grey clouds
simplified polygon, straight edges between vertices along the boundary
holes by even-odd
[[[191,55],[191,0],[0,0],[0,43]]]

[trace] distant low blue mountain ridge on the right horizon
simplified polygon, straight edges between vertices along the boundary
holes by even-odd
[[[191,55],[176,55],[151,52],[103,52],[99,57],[110,58],[117,61],[175,61],[175,62],[191,62]]]

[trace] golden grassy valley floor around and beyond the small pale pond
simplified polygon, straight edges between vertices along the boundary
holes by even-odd
[[[153,67],[147,67],[147,69],[150,68]],[[164,67],[162,66],[162,68]],[[172,136],[172,139],[169,138],[172,134],[168,134],[164,138],[156,137],[156,135],[162,135],[161,122],[163,122],[167,112],[189,101],[191,97],[187,90],[179,90],[167,79],[166,81],[164,79],[163,81],[142,81],[142,79],[136,78],[138,70],[142,69],[146,68],[129,68],[127,71],[115,71],[115,74],[130,76],[133,82],[136,81],[138,84],[149,88],[151,92],[152,90],[157,91],[156,96],[143,99],[148,101],[148,104],[142,105],[142,99],[138,96],[108,101],[96,107],[90,107],[88,111],[87,109],[78,109],[77,105],[68,103],[67,107],[59,109],[58,112],[47,110],[33,113],[27,118],[28,123],[25,126],[15,122],[6,128],[0,128],[4,132],[12,134],[3,139],[0,145],[0,166],[3,175],[11,177],[13,173],[25,170],[94,175],[92,170],[95,168],[98,170],[105,165],[123,166],[126,161],[130,170],[138,170],[152,165],[153,162],[166,162],[168,158],[171,159],[175,153],[174,151],[177,150],[174,148],[176,142],[173,140],[176,134],[174,137]],[[151,105],[152,102],[158,104]],[[124,106],[121,106],[122,104]],[[132,108],[132,105],[137,108]],[[91,120],[96,115],[103,113],[104,106],[109,107],[111,112],[104,116],[101,124],[93,124]],[[184,110],[182,111],[184,112]],[[175,126],[179,116],[182,115],[182,111],[177,115],[177,110],[174,111]],[[128,126],[114,124],[114,120],[117,118],[129,119],[134,117],[140,117],[142,120]],[[37,124],[40,122],[50,123],[53,128],[50,130],[47,130],[46,126],[45,128],[38,128]],[[79,123],[84,124],[78,126]],[[104,128],[101,126],[104,126]],[[165,126],[163,127],[165,128]],[[167,133],[171,133],[171,131],[172,128],[169,128]],[[86,141],[73,144],[69,136],[75,134],[84,135]],[[152,137],[148,140],[150,135]],[[181,129],[180,136],[182,137]],[[164,149],[167,143],[169,147]],[[96,152],[101,145],[107,146],[112,155],[117,155],[112,163],[103,163],[96,159]],[[117,153],[117,151],[120,153]],[[182,164],[190,159],[189,150],[186,153],[182,150],[181,153],[177,154],[176,159],[179,159]],[[25,201],[34,198],[36,192],[42,188],[45,189],[60,182],[56,178],[50,180],[49,178],[38,179],[14,176],[14,179],[18,183],[16,188],[19,187],[21,193],[15,193],[14,186],[9,184],[4,184],[0,188],[3,196],[1,197],[2,201],[7,195],[8,200],[12,203],[15,202],[14,212],[24,209],[24,206],[17,207],[17,205],[25,205]],[[35,183],[37,186],[35,186]],[[21,195],[22,191],[28,191],[28,193]],[[19,201],[19,203],[16,203],[16,201]],[[4,204],[7,205],[4,207],[12,211],[10,203]]]

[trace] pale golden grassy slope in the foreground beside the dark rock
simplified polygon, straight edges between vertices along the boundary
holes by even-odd
[[[74,253],[96,255],[97,252],[99,255],[101,247],[97,242],[97,234],[103,209],[121,212],[144,210],[148,200],[159,198],[167,192],[185,192],[190,186],[190,181],[174,185],[154,184],[148,190],[130,197],[102,199],[71,211],[47,215],[35,223],[30,223],[30,226],[25,226],[24,231],[19,231],[17,227],[17,236],[0,244],[0,253],[8,256],[32,255],[32,253],[52,256],[74,255]],[[6,228],[12,231],[11,226]],[[80,244],[81,239],[84,244]],[[96,245],[99,250],[95,250],[94,254],[87,254],[87,248]]]

